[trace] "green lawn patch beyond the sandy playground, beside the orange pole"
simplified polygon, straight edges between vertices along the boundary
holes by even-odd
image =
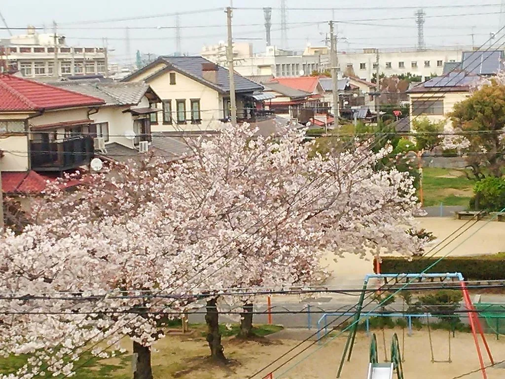
[[[463,169],[423,168],[424,206],[468,206],[475,182],[467,179]]]

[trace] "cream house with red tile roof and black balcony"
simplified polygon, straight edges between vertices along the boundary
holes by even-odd
[[[0,171],[63,172],[89,164],[105,101],[13,75],[0,75]]]

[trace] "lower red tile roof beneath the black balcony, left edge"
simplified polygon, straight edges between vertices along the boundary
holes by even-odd
[[[6,194],[35,195],[44,191],[48,181],[56,180],[49,175],[41,175],[35,171],[3,171],[2,191]],[[63,188],[70,188],[82,181],[70,179],[62,183]]]

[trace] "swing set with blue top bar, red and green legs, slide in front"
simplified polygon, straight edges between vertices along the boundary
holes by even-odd
[[[368,287],[368,283],[370,279],[384,279],[387,281],[388,279],[394,281],[394,285],[400,285],[403,286],[402,288],[406,288],[413,283],[421,283],[423,280],[429,280],[433,282],[435,279],[440,280],[441,282],[445,280],[450,280],[452,282],[459,282],[461,286],[461,291],[463,294],[463,300],[465,302],[465,307],[468,311],[468,319],[470,322],[470,328],[472,330],[472,335],[475,343],[475,348],[477,350],[477,356],[479,359],[479,364],[480,364],[480,370],[482,372],[482,377],[483,379],[487,379],[487,373],[486,373],[486,368],[484,365],[484,359],[482,357],[482,352],[481,352],[481,347],[479,344],[479,339],[477,337],[477,334],[480,335],[482,342],[484,344],[484,348],[487,352],[487,356],[491,362],[491,365],[494,365],[494,360],[491,355],[491,351],[489,349],[489,346],[487,344],[486,338],[484,336],[484,331],[482,328],[482,325],[479,321],[478,315],[477,315],[477,310],[475,306],[473,305],[472,301],[470,300],[470,295],[468,293],[468,289],[466,287],[465,280],[463,278],[463,275],[459,272],[456,273],[419,273],[419,274],[368,274],[365,276],[365,280],[363,283],[363,291],[361,292],[360,295],[360,300],[358,302],[358,307],[357,311],[355,313],[354,317],[354,322],[352,323],[350,329],[349,329],[349,335],[347,337],[347,341],[345,343],[344,351],[342,353],[342,357],[340,359],[340,364],[338,366],[338,371],[337,371],[337,378],[340,377],[340,374],[342,372],[342,367],[345,361],[345,358],[347,357],[347,361],[350,361],[351,354],[352,354],[352,347],[354,346],[355,339],[356,339],[356,334],[358,331],[358,323],[362,318],[368,318],[372,313],[376,313],[371,311],[371,312],[363,312],[363,301],[365,300],[365,293]],[[449,330],[449,340],[448,340],[448,358],[447,360],[435,360],[434,358],[434,353],[433,353],[433,343],[432,343],[432,338],[431,338],[431,327],[429,323],[429,314],[426,314],[426,319],[427,319],[427,324],[428,324],[428,336],[430,340],[430,351],[431,351],[431,362],[432,363],[451,363],[451,331]],[[405,342],[405,330],[403,330],[403,336],[402,340]],[[385,337],[383,336],[384,339],[384,344],[385,344]],[[403,343],[403,348],[405,348],[405,343]],[[393,349],[394,349],[394,357],[393,357]],[[389,369],[392,369],[397,372],[398,379],[403,378],[403,371],[401,370],[401,361],[402,361],[402,356],[403,354],[400,355],[400,349],[399,349],[399,343],[398,343],[398,337],[396,334],[393,336],[393,344],[391,347],[391,361],[390,363],[386,364],[380,364],[377,359],[377,339],[375,337],[375,334],[372,336],[372,342],[371,342],[371,347],[370,347],[370,362],[369,362],[369,378],[374,379],[380,376],[381,370],[385,370],[385,367],[388,367]],[[393,361],[394,358],[394,361]],[[392,367],[392,368],[391,368]],[[374,371],[375,370],[375,371]],[[400,372],[400,371],[401,372]],[[376,374],[374,374],[376,372]],[[393,372],[393,371],[390,371]],[[401,373],[401,375],[400,375]],[[375,375],[375,376],[374,376]]]

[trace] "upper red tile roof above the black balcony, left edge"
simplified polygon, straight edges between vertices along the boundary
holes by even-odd
[[[102,105],[102,99],[13,75],[0,74],[0,112]]]

